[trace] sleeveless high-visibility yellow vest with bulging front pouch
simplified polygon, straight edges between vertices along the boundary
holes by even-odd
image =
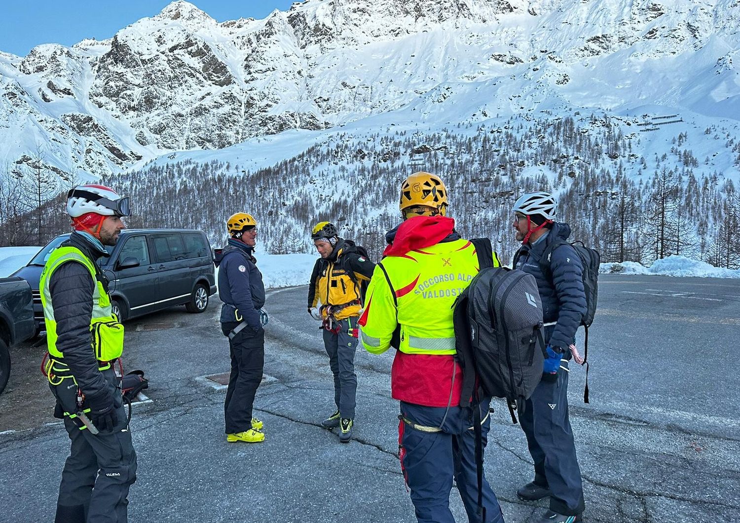
[[[72,246],[59,247],[49,256],[44,270],[41,271],[39,289],[41,291],[41,305],[44,306],[44,323],[47,330],[47,347],[51,357],[64,358],[56,348],[58,334],[56,331],[56,320],[52,305],[49,283],[54,271],[63,263],[81,263],[88,271],[95,287],[92,291],[92,316],[90,317],[90,349],[95,353],[95,358],[101,362],[115,360],[121,357],[124,351],[124,325],[118,323],[118,318],[112,314],[110,308],[110,297],[105,291],[103,284],[95,277],[94,262],[83,254],[80,249]]]

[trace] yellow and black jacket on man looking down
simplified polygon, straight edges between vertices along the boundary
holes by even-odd
[[[375,264],[357,251],[353,241],[340,239],[331,256],[316,260],[309,284],[309,311],[320,303],[343,306],[332,313],[334,320],[359,316],[363,283],[370,280],[374,270]],[[326,308],[322,314],[326,317]]]

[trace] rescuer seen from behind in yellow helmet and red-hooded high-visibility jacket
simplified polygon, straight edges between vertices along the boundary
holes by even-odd
[[[453,477],[470,521],[477,519],[474,411],[460,407],[462,371],[454,359],[455,298],[479,270],[473,244],[446,216],[447,189],[436,175],[416,172],[401,186],[403,223],[386,234],[360,317],[360,338],[373,354],[397,348],[391,394],[400,400],[400,462],[417,520],[454,523]],[[495,253],[494,265],[499,266]],[[480,399],[483,442],[490,428]],[[485,523],[503,522],[501,507],[482,480]]]

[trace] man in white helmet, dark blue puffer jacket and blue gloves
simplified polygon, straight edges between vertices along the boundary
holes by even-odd
[[[525,501],[550,497],[550,510],[539,523],[574,523],[581,521],[584,500],[568,420],[568,362],[569,348],[586,311],[586,297],[580,258],[567,241],[571,227],[557,223],[556,215],[557,200],[548,192],[531,192],[514,203],[512,226],[522,242],[514,254],[514,268],[537,280],[548,344],[542,380],[519,413],[534,460],[534,481],[519,488],[517,496]],[[545,260],[548,247],[551,256]],[[542,269],[541,260],[548,271]]]

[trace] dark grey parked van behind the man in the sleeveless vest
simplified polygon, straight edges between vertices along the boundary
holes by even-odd
[[[51,252],[69,234],[51,240],[27,266],[13,276],[30,283],[36,333],[45,330],[38,281]],[[98,263],[110,280],[113,312],[121,320],[163,308],[185,305],[189,312],[203,312],[215,294],[213,254],[203,231],[187,229],[124,229],[110,257]]]

